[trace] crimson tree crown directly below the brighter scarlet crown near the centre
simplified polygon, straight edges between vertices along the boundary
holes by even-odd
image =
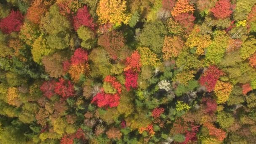
[[[130,91],[132,88],[137,88],[138,86],[138,73],[131,70],[125,71],[125,88],[127,91]]]

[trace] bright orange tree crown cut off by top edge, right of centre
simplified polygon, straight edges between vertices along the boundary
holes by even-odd
[[[189,0],[177,0],[173,11],[171,11],[171,15],[175,17],[181,13],[193,13],[194,11],[195,9],[193,8],[193,5],[189,4]]]

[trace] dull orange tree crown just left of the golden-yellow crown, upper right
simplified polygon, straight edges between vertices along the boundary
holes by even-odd
[[[181,37],[167,37],[165,36],[164,44],[163,44],[163,59],[165,61],[170,58],[176,58],[179,55],[179,52],[184,46],[184,41]]]

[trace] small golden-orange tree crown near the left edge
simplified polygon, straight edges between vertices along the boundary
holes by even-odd
[[[10,87],[7,92],[7,101],[8,104],[19,107],[22,102],[19,100],[19,91],[18,88]]]

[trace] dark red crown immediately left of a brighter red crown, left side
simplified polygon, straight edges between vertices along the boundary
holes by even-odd
[[[51,99],[51,97],[55,94],[54,85],[54,80],[51,80],[43,82],[43,85],[41,85],[40,87],[40,90],[43,92],[43,95],[46,96],[48,99]]]

